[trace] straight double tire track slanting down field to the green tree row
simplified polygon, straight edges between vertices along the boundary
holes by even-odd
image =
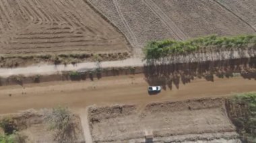
[[[159,19],[166,25],[168,30],[172,33],[172,35],[179,39],[179,40],[185,40],[188,38],[186,34],[184,34],[179,27],[154,3],[152,0],[143,0],[143,2],[159,17]]]

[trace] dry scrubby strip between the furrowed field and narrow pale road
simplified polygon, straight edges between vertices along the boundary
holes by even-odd
[[[78,62],[93,62],[95,57],[102,60],[123,60],[129,58],[129,52],[119,52],[119,53],[104,53],[104,54],[7,54],[0,55],[0,67],[18,67],[18,66],[28,66],[34,63],[48,63],[48,64],[76,64]]]

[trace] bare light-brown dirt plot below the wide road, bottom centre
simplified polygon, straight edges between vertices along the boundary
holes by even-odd
[[[94,142],[185,142],[238,138],[224,99],[150,103],[146,107],[90,107],[88,118]],[[236,140],[238,141],[238,140]]]

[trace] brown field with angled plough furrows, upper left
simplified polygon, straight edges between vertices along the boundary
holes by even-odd
[[[123,34],[83,0],[0,1],[0,54],[127,50]]]

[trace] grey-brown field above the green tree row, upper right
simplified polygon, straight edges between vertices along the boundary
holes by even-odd
[[[185,40],[207,34],[253,34],[253,0],[88,0],[129,39],[142,47],[149,40]],[[236,9],[230,11],[221,3]],[[254,28],[253,28],[254,26]]]

